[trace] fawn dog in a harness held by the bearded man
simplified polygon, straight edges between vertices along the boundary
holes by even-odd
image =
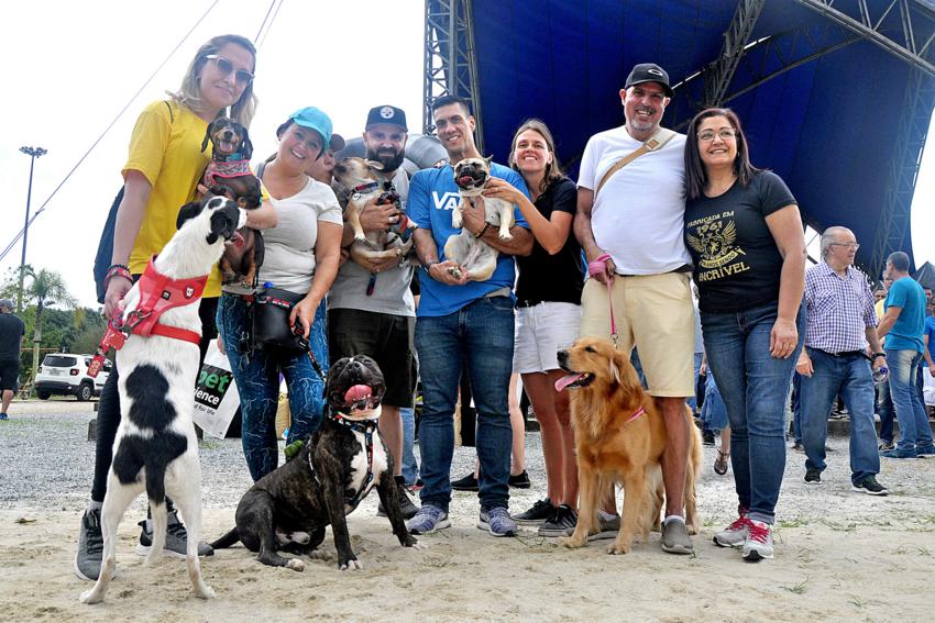
[[[344,209],[344,220],[354,230],[354,242],[351,244],[351,259],[370,269],[367,259],[386,259],[392,257],[405,258],[413,251],[413,237],[408,230],[415,224],[406,218],[399,208],[399,196],[392,185],[381,182],[377,173],[383,165],[363,158],[344,158],[334,165],[332,175],[346,192],[350,193],[348,207]],[[387,188],[388,186],[388,188]],[[381,197],[381,203],[395,203],[397,222],[383,232],[366,232],[361,225],[361,212],[364,205],[374,197]]]

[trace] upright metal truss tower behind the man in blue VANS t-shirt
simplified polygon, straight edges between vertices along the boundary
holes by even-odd
[[[435,134],[431,105],[442,96],[471,102],[477,151],[484,153],[471,0],[426,0],[422,133]]]

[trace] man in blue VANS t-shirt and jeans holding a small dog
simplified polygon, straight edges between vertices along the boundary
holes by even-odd
[[[516,224],[512,241],[502,241],[497,227],[486,224],[482,202],[463,211],[463,229],[499,252],[490,279],[474,281],[468,270],[444,257],[444,243],[462,227],[451,224],[459,203],[453,165],[480,158],[474,144],[474,118],[462,98],[439,98],[432,104],[438,137],[451,164],[427,169],[409,182],[409,219],[418,226],[416,252],[424,268],[419,275],[421,298],[416,312],[416,351],[422,379],[422,416],[419,448],[425,487],[422,507],[408,522],[415,534],[448,527],[451,501],[451,457],[454,453],[454,407],[462,368],[471,381],[477,409],[477,458],[481,461],[481,515],[477,527],[494,536],[514,536],[516,523],[507,511],[510,446],[507,396],[513,367],[514,255],[528,255],[532,235],[514,207]],[[505,179],[528,197],[522,178],[501,165],[491,176]],[[453,268],[460,270],[455,277]]]

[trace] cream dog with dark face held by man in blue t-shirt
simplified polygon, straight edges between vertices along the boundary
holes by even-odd
[[[454,183],[461,201],[451,213],[451,226],[460,227],[461,211],[466,204],[473,205],[491,179],[491,158],[464,158],[454,165]],[[484,197],[484,218],[487,223],[499,229],[502,241],[512,241],[509,229],[516,223],[513,204],[503,199]],[[453,259],[459,266],[468,269],[474,281],[486,281],[497,267],[497,251],[480,238],[475,238],[469,230],[450,236],[444,243],[444,258]],[[461,278],[459,268],[450,268],[455,278]]]

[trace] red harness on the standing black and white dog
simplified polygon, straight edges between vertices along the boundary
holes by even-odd
[[[140,304],[127,314],[125,319],[114,316],[108,323],[107,332],[91,359],[91,365],[88,366],[89,377],[97,377],[108,351],[111,348],[120,351],[132,333],[144,337],[161,335],[193,344],[201,342],[201,333],[160,324],[160,316],[166,310],[187,305],[200,299],[208,276],[172,279],[156,270],[155,259],[154,255],[136,283],[140,288]]]

